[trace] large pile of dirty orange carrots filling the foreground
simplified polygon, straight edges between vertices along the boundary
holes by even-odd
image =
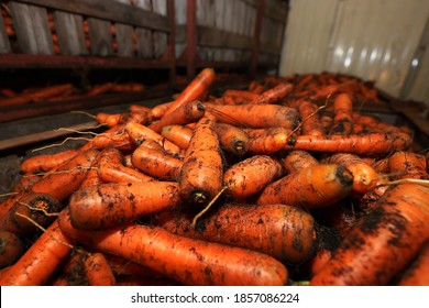
[[[95,114],[0,206],[0,285],[428,285],[427,156],[280,77]]]

